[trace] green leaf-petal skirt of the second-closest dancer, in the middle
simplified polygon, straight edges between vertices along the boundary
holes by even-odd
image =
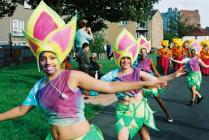
[[[127,127],[132,139],[143,124],[158,130],[153,114],[154,112],[149,107],[146,98],[143,98],[141,102],[134,102],[128,105],[118,103],[116,107],[116,134],[122,128]]]

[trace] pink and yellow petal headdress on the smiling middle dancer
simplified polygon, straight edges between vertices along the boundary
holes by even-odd
[[[133,64],[138,55],[138,45],[136,43],[136,39],[125,28],[116,38],[116,42],[112,50],[115,62],[119,66],[123,57],[129,57],[131,59],[131,64]]]

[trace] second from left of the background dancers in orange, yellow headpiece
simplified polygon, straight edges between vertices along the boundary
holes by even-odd
[[[174,38],[173,43],[174,43],[174,46],[171,49],[172,57],[175,60],[181,61],[184,58],[184,49],[182,48],[183,41],[182,39]],[[180,67],[182,67],[182,64],[173,62],[174,71],[178,70]]]

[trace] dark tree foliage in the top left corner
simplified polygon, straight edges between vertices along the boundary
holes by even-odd
[[[17,3],[23,4],[24,0],[0,0],[0,18],[12,16]]]

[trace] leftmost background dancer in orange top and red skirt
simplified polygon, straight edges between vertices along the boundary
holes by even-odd
[[[169,71],[170,58],[171,58],[172,52],[168,48],[168,45],[169,45],[168,40],[162,40],[161,45],[163,48],[158,50],[158,55],[159,55],[158,64],[162,68],[163,74],[166,75]]]

